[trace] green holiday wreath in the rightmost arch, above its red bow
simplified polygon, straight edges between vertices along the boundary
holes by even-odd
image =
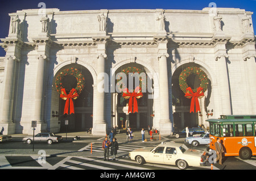
[[[202,87],[203,92],[205,92],[207,90],[207,85],[209,84],[208,77],[203,70],[197,67],[188,67],[188,68],[185,68],[183,71],[181,71],[180,77],[179,77],[180,89],[184,92],[184,94],[186,94],[187,88],[188,88],[187,78],[191,74],[199,75],[199,79],[201,81],[200,87]],[[193,89],[193,92],[196,92],[196,90],[197,89]]]

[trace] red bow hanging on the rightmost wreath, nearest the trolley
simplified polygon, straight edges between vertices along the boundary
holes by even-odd
[[[204,92],[202,87],[198,87],[196,92],[193,92],[191,87],[188,87],[186,89],[187,93],[185,94],[185,97],[190,99],[191,98],[191,105],[190,105],[190,112],[194,112],[195,110],[195,103],[196,103],[196,112],[200,111],[200,105],[199,105],[199,100],[203,98]]]

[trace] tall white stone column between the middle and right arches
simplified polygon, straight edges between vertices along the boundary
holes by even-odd
[[[169,55],[160,54],[159,56],[159,99],[160,99],[160,132],[171,134],[172,125],[169,114],[169,90],[168,90],[168,71],[167,57]]]

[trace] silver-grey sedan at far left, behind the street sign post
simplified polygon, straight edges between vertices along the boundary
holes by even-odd
[[[27,144],[31,144],[33,137],[25,137],[22,139],[24,142],[27,142]],[[34,141],[36,142],[47,142],[49,145],[52,144],[52,142],[59,142],[62,140],[62,136],[57,136],[54,133],[38,133],[34,137]]]

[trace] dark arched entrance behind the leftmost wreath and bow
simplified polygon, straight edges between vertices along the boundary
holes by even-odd
[[[65,100],[60,98],[60,95],[55,89],[55,78],[64,69],[75,68],[78,69],[82,76],[85,78],[85,87],[82,90],[79,98],[73,99],[75,113],[71,115],[64,114]],[[63,86],[65,87],[67,94],[72,88],[77,85],[76,78],[72,75],[68,75],[63,79]],[[65,131],[86,131],[93,127],[93,77],[88,69],[79,64],[68,64],[63,66],[57,71],[53,78],[52,88],[52,119],[57,119],[60,132]],[[67,125],[68,120],[68,125]],[[54,121],[53,121],[54,122]]]

